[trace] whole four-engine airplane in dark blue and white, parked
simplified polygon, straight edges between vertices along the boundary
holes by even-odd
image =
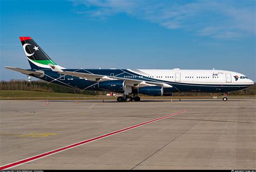
[[[176,92],[223,93],[254,84],[244,74],[225,70],[67,69],[57,65],[31,37],[19,37],[31,69],[5,66],[47,82],[88,91],[122,93],[118,102],[140,101],[138,94],[167,96]]]

